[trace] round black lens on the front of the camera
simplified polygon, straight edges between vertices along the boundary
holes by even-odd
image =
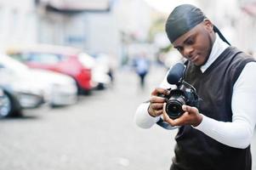
[[[185,105],[185,97],[183,95],[174,95],[167,101],[166,112],[172,119],[181,116],[184,111],[182,105]]]

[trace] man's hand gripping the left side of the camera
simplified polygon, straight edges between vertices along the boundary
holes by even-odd
[[[163,104],[166,102],[166,98],[161,97],[160,95],[168,95],[169,90],[164,88],[155,88],[151,93],[150,106],[148,112],[151,116],[160,116],[162,115]],[[162,96],[163,96],[162,95]]]

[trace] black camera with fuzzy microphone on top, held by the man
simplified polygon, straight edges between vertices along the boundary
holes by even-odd
[[[165,109],[171,119],[176,119],[184,113],[182,105],[199,106],[196,88],[184,81],[185,69],[185,65],[178,63],[168,72],[168,83],[177,86],[176,89],[169,88],[170,93],[163,96],[167,98]]]

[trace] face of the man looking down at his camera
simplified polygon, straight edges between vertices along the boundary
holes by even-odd
[[[208,60],[214,38],[212,23],[209,20],[204,20],[191,31],[178,37],[173,45],[185,59],[189,59],[194,65],[200,66]]]

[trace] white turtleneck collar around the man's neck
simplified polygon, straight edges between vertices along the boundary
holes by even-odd
[[[206,62],[206,64],[201,66],[200,70],[202,72],[206,71],[208,67],[213,64],[214,60],[216,60],[219,55],[222,54],[228,47],[229,44],[220,39],[219,35],[216,34],[215,42],[213,43],[213,48],[208,58],[208,61]]]

